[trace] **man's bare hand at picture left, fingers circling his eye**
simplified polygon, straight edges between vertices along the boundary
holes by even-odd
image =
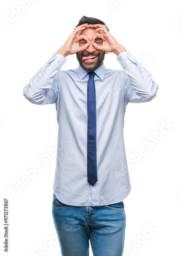
[[[80,33],[87,27],[89,28],[89,25],[87,23],[76,27],[73,33],[66,40],[65,44],[57,51],[57,54],[61,54],[66,57],[67,55],[84,51],[90,45],[90,41],[87,36],[80,35]],[[86,44],[84,44],[83,46],[79,46],[78,43],[81,39],[86,40]]]

